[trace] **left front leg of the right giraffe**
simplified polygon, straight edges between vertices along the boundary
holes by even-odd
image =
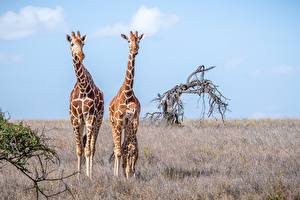
[[[115,164],[114,164],[114,175],[119,176],[119,166],[121,159],[121,133],[122,127],[117,124],[113,127],[113,140],[114,140],[114,154],[115,154]]]

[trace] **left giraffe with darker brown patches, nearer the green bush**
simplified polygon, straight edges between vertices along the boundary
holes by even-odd
[[[86,175],[92,178],[93,157],[98,132],[103,119],[103,93],[95,85],[92,76],[82,64],[84,59],[83,46],[86,35],[67,35],[71,44],[73,67],[77,82],[70,96],[70,118],[75,133],[77,169],[81,171],[81,156],[84,151]],[[84,128],[86,129],[83,135]]]

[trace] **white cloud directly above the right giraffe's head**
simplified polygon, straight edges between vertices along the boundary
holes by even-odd
[[[128,24],[117,23],[99,29],[95,35],[110,36],[126,33],[130,30],[137,30],[147,36],[156,34],[158,31],[169,28],[178,22],[176,15],[167,15],[162,13],[158,8],[148,8],[141,6],[132,16]]]

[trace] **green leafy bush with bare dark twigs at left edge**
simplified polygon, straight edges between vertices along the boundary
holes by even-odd
[[[22,123],[10,123],[5,118],[5,114],[0,110],[0,167],[4,165],[3,161],[13,165],[32,181],[37,199],[39,198],[39,194],[48,198],[65,191],[68,191],[72,195],[69,187],[63,182],[63,179],[71,177],[76,173],[68,176],[48,177],[56,171],[53,170],[53,167],[59,165],[59,157],[46,144],[46,137],[43,134],[38,135],[36,131],[33,131],[30,127]],[[53,164],[52,169],[49,168],[50,164]],[[62,182],[65,189],[47,194],[39,184],[49,181]]]

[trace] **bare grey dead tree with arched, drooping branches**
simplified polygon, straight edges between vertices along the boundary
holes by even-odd
[[[204,65],[201,65],[188,76],[186,83],[176,85],[162,95],[158,94],[152,100],[157,103],[158,111],[146,113],[145,118],[150,119],[152,122],[166,121],[168,124],[180,124],[184,117],[181,95],[196,94],[199,95],[199,100],[202,100],[202,118],[204,118],[205,113],[208,117],[214,117],[215,113],[219,113],[224,121],[229,99],[222,95],[217,85],[204,78],[204,73],[213,68],[215,66],[205,68]],[[207,112],[206,96],[208,99]]]

